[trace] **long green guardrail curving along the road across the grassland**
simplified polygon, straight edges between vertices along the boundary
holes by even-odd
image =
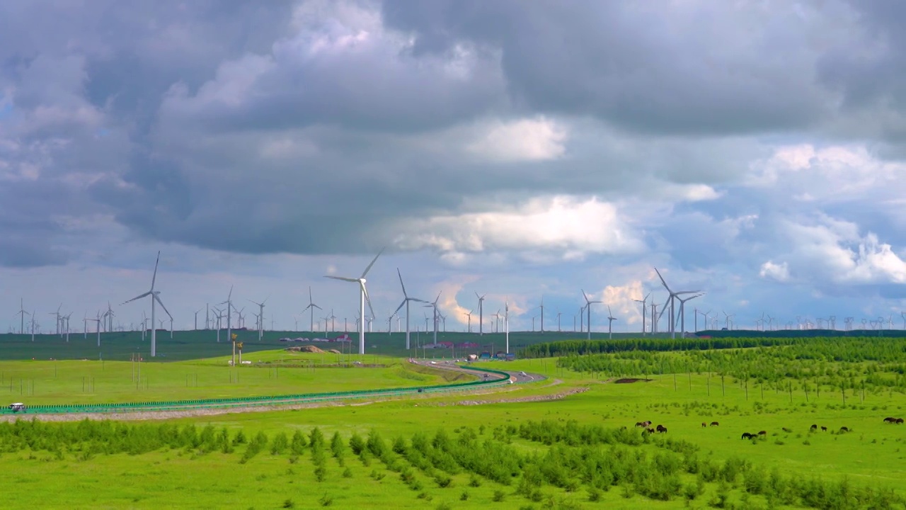
[[[291,395],[257,396],[257,397],[229,397],[229,398],[197,398],[192,400],[163,400],[155,402],[120,402],[109,404],[48,404],[28,406],[25,411],[13,412],[9,407],[0,408],[0,415],[21,414],[67,414],[67,413],[107,413],[107,412],[141,412],[161,411],[187,408],[223,408],[240,406],[275,406],[293,404],[309,400],[332,400],[337,398],[365,398],[376,396],[400,396],[412,393],[436,393],[439,391],[456,391],[472,387],[485,387],[504,384],[510,375],[500,370],[490,368],[462,367],[478,372],[486,372],[500,376],[499,379],[478,379],[464,383],[428,387],[389,387],[383,389],[359,389],[351,391],[333,391],[327,393],[299,393]]]

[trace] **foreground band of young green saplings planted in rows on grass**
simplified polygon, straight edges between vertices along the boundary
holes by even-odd
[[[526,451],[514,446],[515,439],[537,442],[549,447]],[[638,446],[655,446],[655,450]],[[574,496],[583,490],[597,501],[602,492],[620,487],[622,495],[642,495],[660,500],[681,497],[694,500],[710,486],[710,505],[728,504],[729,491],[736,489],[743,500],[760,495],[771,505],[805,505],[815,508],[884,508],[906,505],[892,490],[852,486],[847,481],[824,481],[802,476],[783,476],[766,471],[747,460],[732,457],[718,462],[699,457],[699,447],[688,441],[668,437],[639,435],[625,428],[580,425],[574,421],[526,421],[519,427],[496,427],[486,434],[463,427],[452,433],[440,429],[433,435],[417,433],[396,436],[390,441],[377,431],[366,437],[352,434],[344,441],[338,433],[328,442],[317,427],[304,434],[279,432],[268,436],[258,432],[246,436],[242,430],[231,434],[226,428],[176,426],[172,424],[126,424],[109,421],[42,423],[19,421],[0,424],[0,449],[55,452],[58,458],[75,453],[88,461],[92,455],[141,454],[161,448],[181,448],[193,458],[210,452],[240,452],[239,462],[252,461],[257,455],[288,456],[297,463],[300,456],[311,455],[315,480],[328,476],[329,457],[343,468],[342,476],[354,476],[347,466],[352,454],[363,466],[380,462],[399,480],[429,497],[425,484],[439,488],[456,486],[453,476],[467,475],[469,486],[484,481],[499,485],[494,501],[521,496],[541,502],[554,497],[546,492],[551,486]],[[89,455],[84,455],[84,454]],[[372,469],[371,478],[381,481],[385,473]],[[322,505],[330,505],[328,496]],[[459,496],[467,499],[467,489]]]

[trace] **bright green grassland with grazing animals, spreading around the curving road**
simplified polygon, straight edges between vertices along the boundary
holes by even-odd
[[[895,352],[896,346],[892,347],[890,352]],[[467,397],[488,402],[480,406],[458,405],[461,397],[421,397],[166,422],[176,427],[197,427],[198,431],[209,426],[217,433],[225,430],[231,437],[239,432],[248,439],[258,433],[265,435],[265,446],[245,462],[247,442],[237,444],[229,453],[190,443],[168,444],[130,455],[104,453],[101,445],[105,443],[98,439],[58,448],[0,439],[4,451],[0,454],[0,468],[12,473],[8,483],[23,494],[9,500],[9,507],[22,508],[903,507],[906,428],[882,422],[883,417],[906,417],[906,397],[899,386],[888,384],[897,379],[884,375],[888,369],[895,370],[899,355],[892,354],[893,358],[887,360],[866,360],[863,355],[860,359],[835,361],[777,354],[777,359],[790,358],[791,363],[797,363],[792,366],[805,368],[805,372],[790,372],[784,366],[779,373],[770,372],[771,377],[767,377],[767,371],[754,373],[758,367],[754,361],[759,358],[766,360],[762,364],[765,370],[776,365],[770,358],[775,356],[771,349],[775,348],[763,349],[754,358],[721,351],[727,359],[739,359],[737,365],[722,367],[721,374],[691,369],[692,361],[713,361],[699,352],[663,353],[662,356],[670,357],[664,364],[656,357],[645,358],[642,363],[640,358],[621,354],[604,355],[611,358],[609,361],[569,357],[479,363],[488,368],[506,366],[549,377],[506,387],[500,394]],[[776,349],[779,352],[785,348]],[[833,358],[833,353],[830,355]],[[240,384],[227,379],[218,391],[230,396],[249,389],[266,391],[291,384],[294,378],[304,380],[292,384],[313,387],[361,387],[387,381],[401,386],[410,377],[401,375],[399,360],[390,358],[377,358],[385,368],[312,371],[305,362],[285,362],[288,357],[282,352],[255,356],[262,360],[260,368],[237,368]],[[577,359],[583,363],[607,361],[613,373],[603,371],[603,365],[583,365]],[[231,369],[224,366],[224,360],[154,363],[142,369],[172,371],[172,391],[182,394],[195,391],[185,386],[185,374],[190,369],[211,370],[200,372],[206,375],[199,376],[199,380],[227,378]],[[67,379],[71,386],[80,380],[80,363],[99,362],[66,363],[75,367]],[[111,362],[105,363],[103,371],[111,366]],[[44,362],[41,369],[46,371],[52,364]],[[13,370],[27,370],[29,365],[39,366],[26,361],[9,366],[3,363],[0,369],[11,374]],[[279,378],[268,378],[275,365],[284,367],[279,369]],[[747,368],[748,376],[737,374],[737,367]],[[245,387],[245,381],[252,377],[246,375],[246,369],[260,370],[255,384],[249,383],[254,388]],[[285,374],[293,371],[299,375]],[[376,375],[381,372],[389,373],[390,379]],[[819,375],[827,379],[818,378]],[[123,368],[117,378],[129,376],[130,372]],[[151,377],[151,387],[155,384],[153,378],[166,378],[163,373],[154,376],[153,372]],[[650,380],[614,383],[619,377]],[[840,389],[834,386],[837,377],[848,381],[843,385],[848,396],[845,405]],[[863,377],[869,380],[864,393]],[[824,389],[819,395],[813,386],[806,397],[804,381],[813,381],[813,385],[817,381],[819,386],[824,384]],[[101,382],[97,385],[101,387]],[[151,391],[122,386],[118,395],[122,398],[140,397],[141,392],[148,395]],[[518,401],[520,397],[551,395],[575,387],[588,389],[561,399]],[[510,402],[495,404],[496,399]],[[633,427],[643,420],[663,425],[669,432],[645,436]],[[712,421],[718,421],[719,426],[701,427],[702,422]],[[828,431],[810,432],[813,424],[827,427]],[[852,432],[838,433],[844,426]],[[309,436],[315,427],[328,439],[338,435],[345,445],[342,460],[329,447],[320,456],[311,446],[300,455],[275,447],[282,434],[293,436],[300,431]],[[622,431],[622,427],[627,430]],[[444,431],[441,437],[451,438],[452,446],[444,446],[447,442],[437,438],[439,430]],[[766,435],[756,440],[740,439],[743,432],[760,430],[765,430]],[[367,438],[370,434],[381,436],[390,454],[352,453],[352,437]],[[434,449],[429,448],[427,453],[419,450],[419,435],[427,437]],[[397,448],[391,446],[398,439],[401,446],[395,451]],[[468,456],[457,449],[458,444],[470,445],[467,451],[477,455]],[[86,455],[92,448],[97,451]],[[478,474],[481,459],[496,458],[495,452],[503,452],[501,458],[508,459],[501,460],[501,465],[515,463],[514,473],[499,479]],[[477,460],[469,460],[473,457]],[[450,458],[458,461],[449,464]],[[604,464],[591,469],[590,459]],[[478,486],[472,486],[475,480]],[[866,492],[869,488],[871,494]]]

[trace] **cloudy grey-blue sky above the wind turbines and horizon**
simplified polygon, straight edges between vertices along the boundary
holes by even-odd
[[[352,321],[367,276],[465,329],[737,328],[906,310],[906,4],[0,4],[0,330],[20,302],[177,329]],[[21,301],[20,301],[21,300]],[[649,301],[651,302],[651,301]],[[413,328],[424,313],[413,310]],[[401,312],[400,312],[401,313]],[[704,317],[699,315],[699,329]],[[535,319],[535,327],[540,320]],[[666,316],[660,328],[666,328]],[[27,319],[26,319],[27,322]],[[394,330],[396,321],[393,320]],[[477,319],[472,320],[473,328]],[[307,329],[307,328],[305,328]]]

